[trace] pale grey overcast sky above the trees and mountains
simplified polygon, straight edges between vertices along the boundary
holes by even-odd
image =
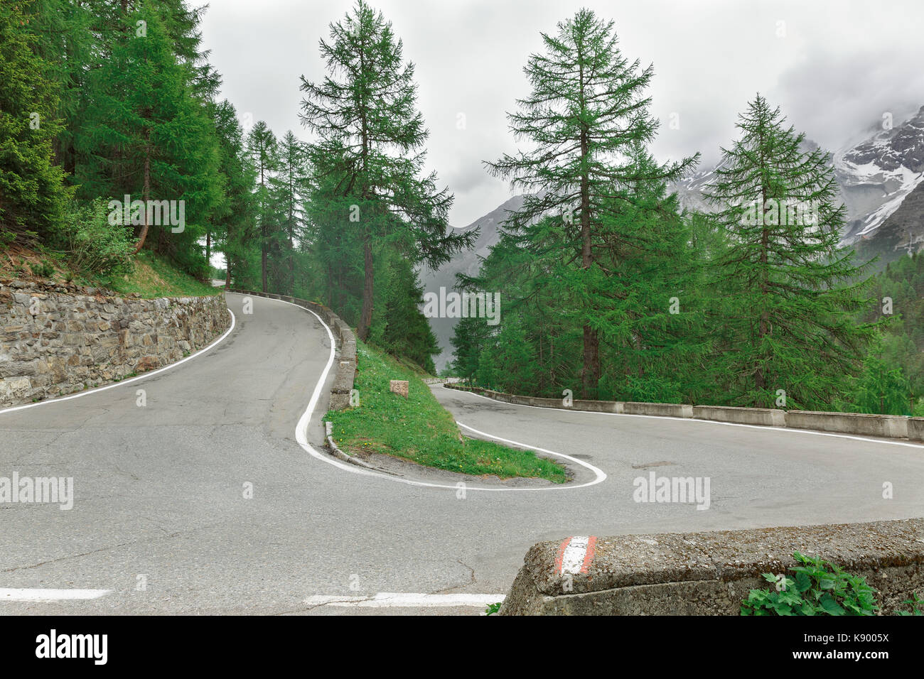
[[[528,93],[523,67],[540,31],[581,6],[615,21],[623,53],[654,65],[655,154],[714,161],[736,115],[760,91],[798,129],[836,151],[924,104],[924,3],[746,0],[372,0],[417,66],[419,108],[431,130],[428,164],[456,194],[454,226],[510,197],[482,160],[517,146],[505,112]],[[238,115],[281,136],[298,121],[298,77],[320,79],[318,40],[352,0],[212,0],[206,49]],[[457,124],[465,116],[464,128]],[[676,114],[677,128],[671,128]]]

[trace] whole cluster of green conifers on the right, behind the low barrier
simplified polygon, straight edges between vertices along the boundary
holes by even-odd
[[[457,374],[517,394],[924,413],[924,258],[874,278],[839,245],[828,153],[758,94],[703,187],[711,210],[681,210],[666,186],[696,159],[648,152],[651,67],[592,12],[542,39],[508,114],[530,151],[488,164],[529,195],[459,281],[500,291],[501,322],[458,322]]]

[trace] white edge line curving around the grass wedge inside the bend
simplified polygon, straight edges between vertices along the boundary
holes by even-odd
[[[234,293],[234,294],[240,295],[241,293]],[[270,302],[280,302],[282,304],[289,304],[293,307],[296,307],[297,309],[303,309],[305,311],[308,311],[312,316],[314,316],[314,318],[318,319],[318,322],[322,324],[324,330],[327,331],[327,337],[331,343],[331,353],[327,357],[327,365],[324,366],[324,370],[321,373],[321,377],[318,378],[318,382],[314,385],[314,391],[311,393],[311,398],[310,398],[310,401],[308,402],[308,407],[305,408],[305,412],[302,413],[301,418],[298,418],[298,424],[295,427],[295,439],[298,442],[298,445],[300,445],[306,453],[308,453],[309,455],[311,455],[312,457],[316,459],[321,460],[324,463],[327,463],[328,465],[333,465],[334,467],[343,469],[344,471],[348,471],[353,474],[359,474],[360,476],[371,476],[371,477],[378,477],[379,479],[388,479],[390,481],[397,481],[398,483],[406,483],[409,486],[423,486],[425,488],[444,488],[450,491],[458,491],[458,486],[456,484],[447,485],[444,483],[429,483],[427,481],[415,481],[411,479],[401,479],[399,477],[391,476],[390,474],[382,474],[380,472],[372,471],[371,469],[365,469],[363,467],[357,467],[356,465],[347,464],[346,462],[337,460],[334,457],[331,457],[330,455],[323,455],[322,453],[320,453],[319,451],[316,451],[313,447],[311,447],[310,443],[308,443],[308,426],[311,421],[311,416],[314,414],[314,408],[318,405],[318,400],[321,398],[321,393],[324,388],[324,382],[327,381],[327,375],[331,371],[331,366],[334,365],[334,356],[336,354],[336,342],[334,341],[334,333],[331,332],[331,329],[327,326],[327,323],[325,323],[322,320],[321,316],[316,314],[311,309],[306,309],[305,307],[301,307],[298,304],[294,304],[292,302],[286,302],[285,299],[273,299],[270,297],[261,297],[261,299],[267,299],[267,301],[270,301]],[[524,448],[529,448],[529,450],[535,450],[540,453],[545,453],[547,455],[554,455],[556,457],[561,457],[565,460],[568,460],[569,462],[575,463],[576,465],[580,465],[581,467],[587,467],[594,474],[593,480],[590,480],[587,483],[581,483],[580,485],[577,485],[577,486],[544,486],[542,488],[480,488],[478,486],[468,486],[467,485],[466,491],[490,491],[490,492],[568,491],[568,490],[576,490],[578,488],[587,488],[588,486],[593,486],[593,485],[596,485],[606,480],[606,474],[603,472],[602,469],[598,467],[594,467],[593,465],[585,462],[584,460],[578,460],[576,457],[571,457],[570,455],[564,455],[562,453],[555,453],[554,451],[546,450],[545,448],[537,448],[536,446],[528,445],[527,443],[519,443],[516,441],[510,441],[508,439],[502,439],[499,436],[494,436],[493,434],[490,434],[490,433],[485,433],[483,431],[474,430],[471,427],[468,427],[462,424],[461,422],[456,422],[456,424],[458,424],[460,427],[465,427],[468,430],[475,431],[476,433],[479,433],[482,436],[487,436],[489,438],[492,438],[495,441],[511,443],[513,445],[519,445]]]

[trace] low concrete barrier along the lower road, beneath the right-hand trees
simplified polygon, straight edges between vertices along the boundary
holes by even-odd
[[[575,400],[573,406],[565,407],[561,399],[519,396],[492,392],[480,387],[466,387],[462,384],[444,384],[447,389],[458,389],[481,394],[504,403],[521,406],[560,408],[563,410],[586,410],[600,413],[624,413],[626,415],[650,415],[668,418],[709,419],[715,422],[734,422],[761,427],[788,427],[818,431],[836,431],[861,436],[908,439],[924,442],[924,418],[904,418],[897,415],[866,415],[862,413],[822,413],[808,410],[781,410],[777,408],[746,408],[731,406],[688,406],[670,403],[634,403],[621,401]]]

